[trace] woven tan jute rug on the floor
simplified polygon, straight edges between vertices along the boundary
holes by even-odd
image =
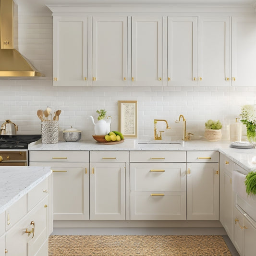
[[[52,235],[49,256],[232,256],[220,235]]]

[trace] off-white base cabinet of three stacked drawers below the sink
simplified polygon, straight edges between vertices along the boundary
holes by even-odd
[[[131,152],[130,169],[132,220],[186,219],[185,152]]]

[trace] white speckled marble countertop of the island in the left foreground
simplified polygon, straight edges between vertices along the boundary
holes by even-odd
[[[50,167],[0,166],[0,213],[50,174]]]

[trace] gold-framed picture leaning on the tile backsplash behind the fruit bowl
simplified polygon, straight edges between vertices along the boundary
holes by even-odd
[[[126,138],[138,136],[137,100],[118,100],[118,131]]]

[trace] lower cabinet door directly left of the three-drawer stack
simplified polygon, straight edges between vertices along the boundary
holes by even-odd
[[[125,219],[125,163],[91,163],[90,219]]]

